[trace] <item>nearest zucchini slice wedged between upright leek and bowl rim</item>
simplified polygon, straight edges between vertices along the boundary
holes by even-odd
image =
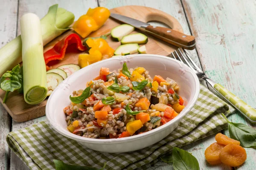
[[[52,94],[52,91],[64,80],[61,75],[57,73],[47,73],[47,96]]]

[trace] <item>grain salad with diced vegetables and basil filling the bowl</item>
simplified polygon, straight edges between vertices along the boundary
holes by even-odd
[[[122,138],[145,133],[174,119],[185,108],[170,78],[152,79],[143,67],[101,68],[84,90],[73,91],[64,108],[67,129],[78,136]]]

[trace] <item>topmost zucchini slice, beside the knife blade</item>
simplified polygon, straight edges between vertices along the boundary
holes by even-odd
[[[114,41],[122,40],[122,37],[125,35],[130,34],[134,31],[134,27],[128,24],[122,24],[120,26],[116,26],[115,28],[111,29],[111,36]]]

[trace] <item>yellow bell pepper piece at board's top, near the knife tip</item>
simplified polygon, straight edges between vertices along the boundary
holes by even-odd
[[[79,17],[73,29],[81,35],[87,37],[92,31],[98,30],[110,16],[110,11],[104,7],[89,8],[85,15]]]

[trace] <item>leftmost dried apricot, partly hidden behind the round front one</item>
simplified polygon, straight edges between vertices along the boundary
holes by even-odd
[[[221,152],[221,149],[224,148],[225,145],[218,144],[217,142],[211,144],[209,147],[206,148],[204,151],[205,159],[211,164],[214,163],[213,161],[220,160],[219,154]]]

